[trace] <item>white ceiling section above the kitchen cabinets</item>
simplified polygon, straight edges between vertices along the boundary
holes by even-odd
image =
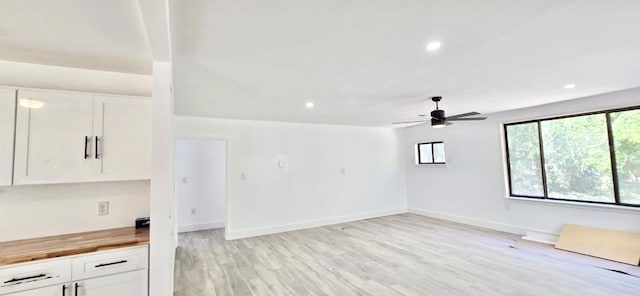
[[[2,0],[0,60],[151,73],[134,0]]]

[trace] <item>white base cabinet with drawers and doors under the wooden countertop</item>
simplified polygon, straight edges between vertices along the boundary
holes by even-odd
[[[147,296],[148,256],[141,246],[0,266],[0,295]]]

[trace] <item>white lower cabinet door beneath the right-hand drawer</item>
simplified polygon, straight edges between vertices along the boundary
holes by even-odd
[[[75,296],[147,295],[147,270],[121,273],[74,283]],[[76,290],[75,285],[78,285]]]

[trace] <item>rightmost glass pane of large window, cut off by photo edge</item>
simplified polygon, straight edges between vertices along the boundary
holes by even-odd
[[[640,204],[640,110],[610,114],[620,202]]]

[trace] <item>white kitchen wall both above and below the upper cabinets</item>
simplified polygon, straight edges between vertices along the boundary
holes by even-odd
[[[149,95],[151,77],[0,61],[0,85]],[[98,201],[109,201],[98,216]],[[149,216],[149,181],[0,187],[0,241],[133,226]]]

